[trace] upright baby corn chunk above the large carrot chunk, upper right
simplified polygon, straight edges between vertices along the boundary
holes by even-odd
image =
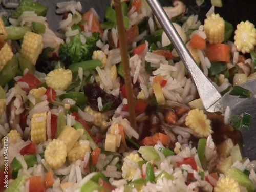
[[[225,21],[219,14],[211,14],[204,20],[204,31],[209,44],[221,44],[224,40]]]

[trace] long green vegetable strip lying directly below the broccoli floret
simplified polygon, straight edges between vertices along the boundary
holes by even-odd
[[[82,68],[83,71],[93,70],[97,66],[101,67],[103,66],[103,63],[99,59],[93,59],[83,62],[77,62],[69,65],[69,69],[72,71],[72,73],[77,73],[79,67]]]

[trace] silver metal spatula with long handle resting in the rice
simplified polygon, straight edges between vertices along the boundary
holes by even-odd
[[[238,114],[238,110],[242,111],[243,109],[248,108],[248,105],[251,105],[250,103],[252,103],[253,100],[254,103],[256,102],[254,97],[252,97],[251,99],[239,99],[238,96],[232,96],[229,95],[229,93],[221,97],[221,94],[217,91],[217,89],[212,85],[208,78],[203,74],[201,69],[197,66],[195,60],[187,50],[178,32],[176,31],[172,22],[170,22],[170,19],[166,15],[158,0],[147,0],[147,3],[148,5],[150,5],[163,30],[174,45],[191,79],[195,82],[199,96],[202,99],[204,108],[207,111],[223,112],[224,109],[226,109],[226,106],[229,106],[231,113]],[[244,87],[255,94],[255,83],[256,80],[252,80],[242,84],[241,87]],[[247,104],[245,105],[244,103]],[[256,108],[254,111],[256,112]],[[253,112],[252,114],[255,113]]]

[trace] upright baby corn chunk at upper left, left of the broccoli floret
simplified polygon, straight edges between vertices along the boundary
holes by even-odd
[[[22,57],[33,65],[35,65],[38,56],[41,54],[43,48],[42,36],[33,32],[26,32],[23,37],[22,50],[20,51]]]

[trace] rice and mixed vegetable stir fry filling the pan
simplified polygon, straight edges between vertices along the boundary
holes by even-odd
[[[255,26],[212,5],[202,24],[181,1],[164,9],[217,90],[251,97],[239,85],[256,77]],[[113,3],[103,20],[80,2],[56,6],[57,31],[32,0],[0,13],[0,191],[255,190],[241,153],[251,115],[205,112],[146,1],[121,1],[138,129]]]

